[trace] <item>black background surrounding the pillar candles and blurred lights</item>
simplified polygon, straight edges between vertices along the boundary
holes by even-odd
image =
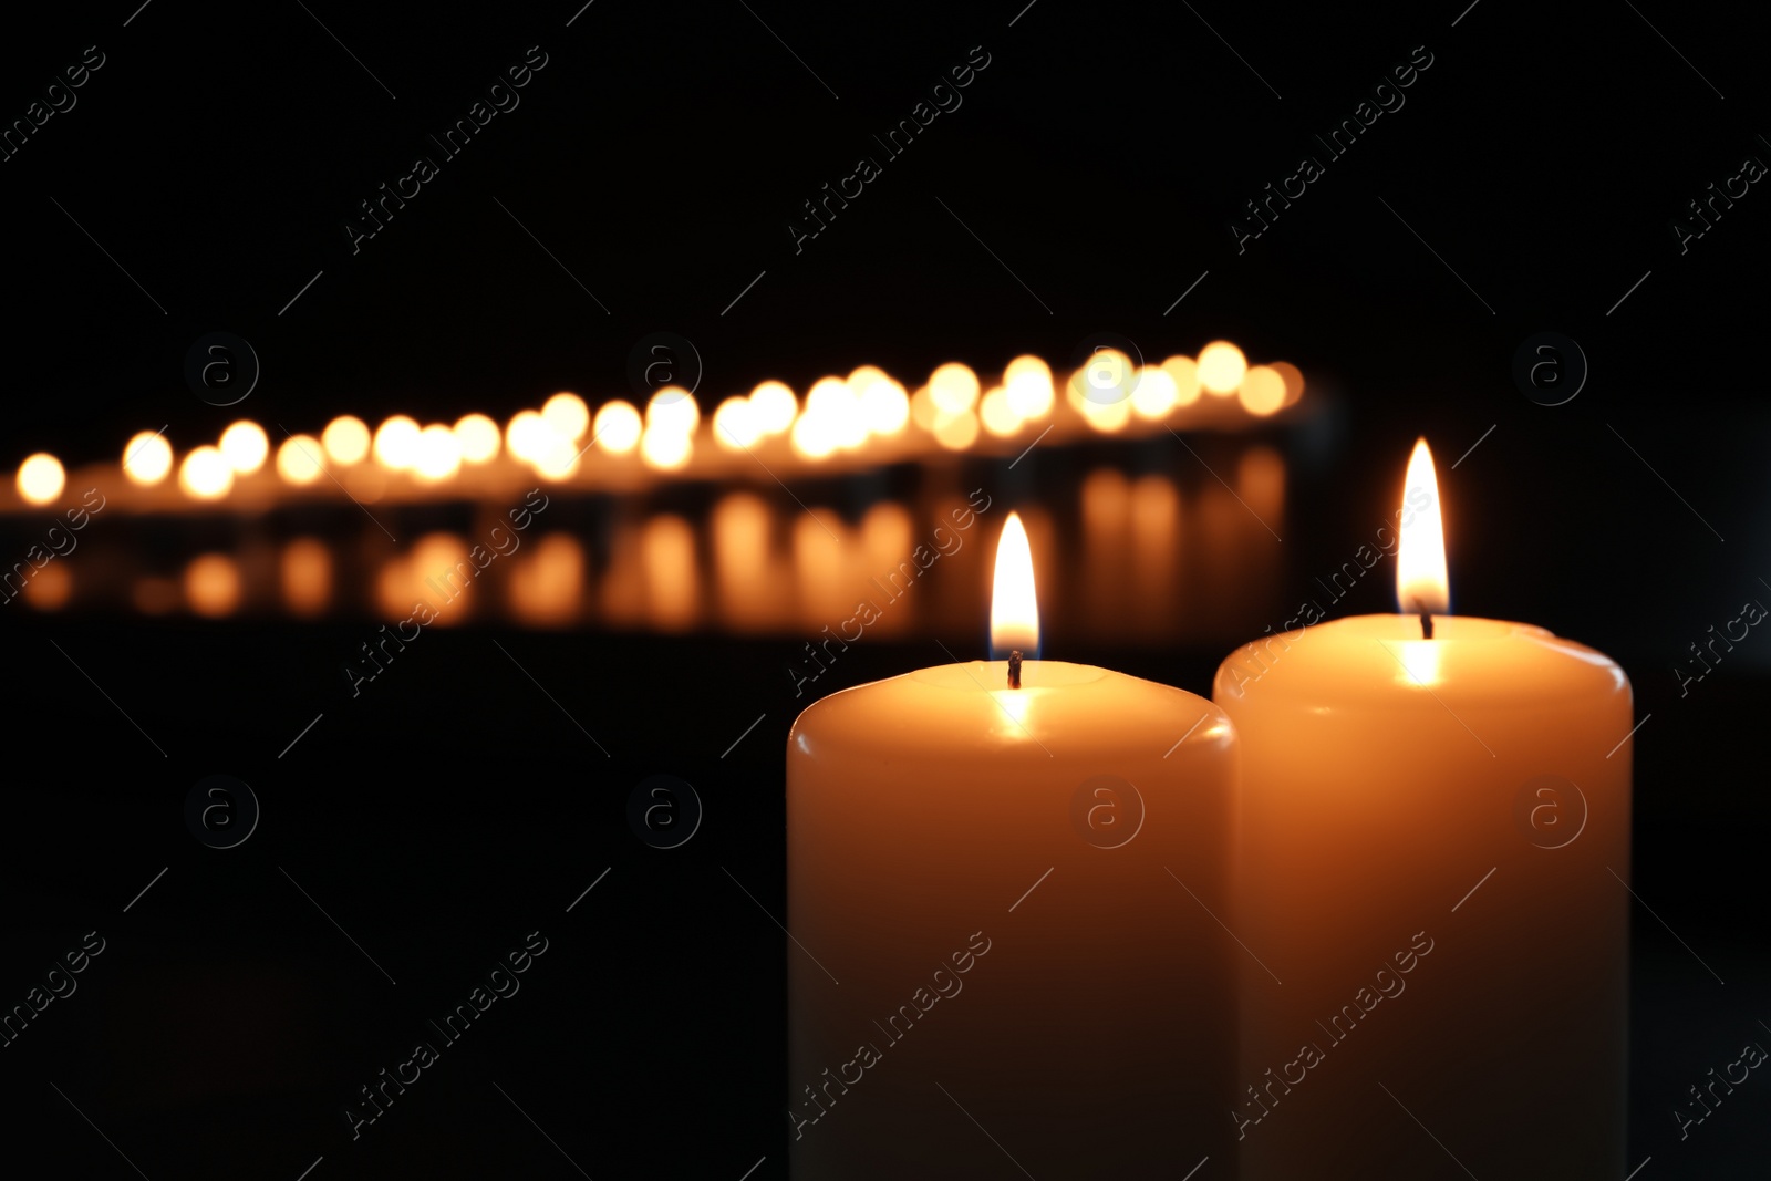
[[[1750,18],[1622,0],[308,7],[9,16],[0,119],[85,46],[104,66],[0,163],[0,466],[113,459],[159,423],[182,450],[239,413],[313,430],[338,413],[507,416],[560,388],[595,402],[627,393],[650,331],[696,343],[705,409],[861,361],[1057,361],[1103,329],[1153,358],[1229,336],[1296,361],[1335,409],[1288,443],[1288,595],[1369,536],[1426,436],[1458,609],[1543,623],[1635,680],[1652,715],[1633,742],[1635,887],[1654,914],[1635,910],[1629,1158],[1652,1154],[1643,1177],[1762,1169],[1771,1084],[1686,1142],[1670,1117],[1743,1041],[1771,1039],[1771,641],[1753,632],[1688,696],[1672,671],[1771,595],[1755,331],[1771,198],[1755,184],[1682,255],[1670,230],[1744,156],[1771,159]],[[352,253],[356,204],[437,156],[427,133],[537,44],[547,66],[521,106]],[[1326,161],[1311,135],[1422,44],[1433,66],[1406,106]],[[871,136],[972,46],[990,66],[963,106],[882,159]],[[1238,253],[1229,220],[1303,154],[1326,174]],[[795,253],[788,221],[857,156],[884,174]],[[218,329],[264,365],[228,411],[182,379]],[[1539,331],[1590,363],[1566,405],[1512,381]],[[1344,611],[1387,595],[1371,581]],[[475,627],[351,701],[331,653],[363,634],[5,620],[0,1000],[83,931],[108,940],[0,1052],[5,1151],[94,1177],[129,1176],[113,1147],[156,1179],[292,1179],[317,1156],[313,1177],[574,1176],[556,1147],[599,1177],[739,1177],[758,1158],[754,1177],[785,1176],[790,946],[763,908],[785,910],[781,749],[804,701],[781,666],[799,641]],[[1206,692],[1243,639],[1063,655]],[[862,645],[818,689],[944,659]],[[218,772],[264,804],[228,852],[181,814]],[[625,822],[659,772],[707,806],[671,852]],[[531,930],[549,951],[522,993],[352,1144],[338,1107]]]

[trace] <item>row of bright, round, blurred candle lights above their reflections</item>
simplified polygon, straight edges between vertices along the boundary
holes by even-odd
[[[592,413],[576,393],[556,393],[499,425],[466,414],[453,425],[420,425],[395,414],[379,427],[354,416],[321,434],[287,434],[275,446],[250,420],[228,425],[218,443],[177,459],[161,432],[140,432],[122,448],[122,475],[135,510],[177,510],[191,501],[266,505],[313,489],[331,476],[354,499],[492,496],[531,478],[549,483],[638,489],[666,478],[783,478],[940,453],[1011,453],[1032,441],[1052,444],[1098,436],[1139,436],[1181,425],[1245,425],[1270,418],[1303,393],[1295,365],[1249,365],[1229,342],[1197,358],[1135,365],[1100,349],[1063,381],[1036,356],[1008,363],[988,388],[962,363],[937,367],[914,393],[884,370],[862,365],[848,377],[824,377],[800,400],[765,381],[721,402],[701,421],[691,391],[664,386],[645,409],[609,400]],[[177,480],[170,480],[177,467]],[[275,473],[275,475],[273,475]],[[18,501],[0,510],[55,503],[67,471],[50,453],[19,466]]]

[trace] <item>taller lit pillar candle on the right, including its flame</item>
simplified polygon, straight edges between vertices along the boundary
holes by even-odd
[[[1447,614],[1424,441],[1397,517],[1401,614],[1268,636],[1217,675],[1245,767],[1241,1176],[1438,1176],[1450,1154],[1615,1179],[1629,680],[1541,627]]]

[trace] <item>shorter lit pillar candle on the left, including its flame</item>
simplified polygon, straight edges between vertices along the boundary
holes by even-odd
[[[795,1177],[1004,1154],[1176,1177],[1229,1153],[1234,731],[1179,689],[1034,659],[1015,515],[990,636],[1006,659],[836,692],[788,737]]]

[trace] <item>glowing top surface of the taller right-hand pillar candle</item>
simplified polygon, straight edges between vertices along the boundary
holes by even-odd
[[[1323,708],[1394,701],[1399,691],[1461,701],[1555,703],[1629,696],[1629,678],[1605,653],[1532,623],[1433,616],[1422,639],[1413,614],[1360,614],[1277,632],[1233,652],[1213,694],[1286,699]]]

